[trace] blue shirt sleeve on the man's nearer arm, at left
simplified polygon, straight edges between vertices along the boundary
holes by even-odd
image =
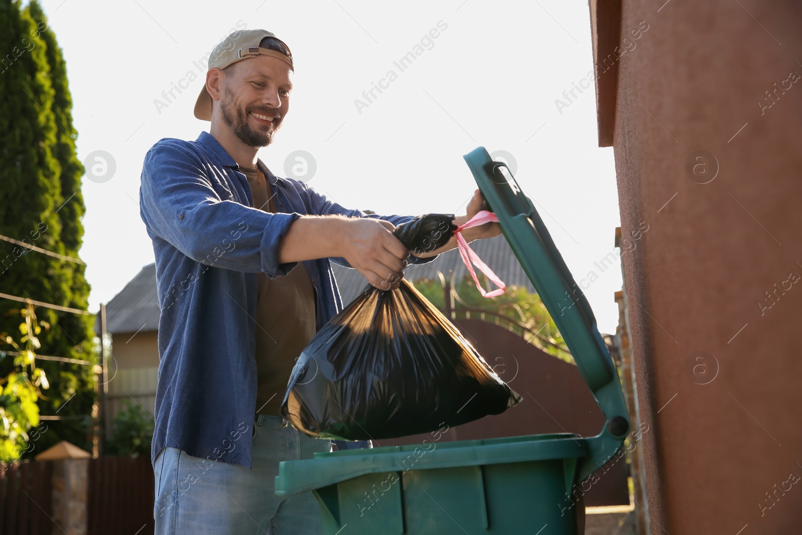
[[[221,199],[194,153],[160,141],[145,156],[140,215],[148,230],[194,261],[269,278],[286,275],[298,262],[280,264],[278,251],[299,213],[266,213]]]

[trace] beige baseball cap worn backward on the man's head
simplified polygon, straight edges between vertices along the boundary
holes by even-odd
[[[292,52],[288,56],[281,52],[259,47],[259,43],[265,37],[276,38],[286,47],[287,51],[290,51],[290,47],[287,47],[286,43],[278,39],[273,32],[267,30],[239,30],[230,34],[223,39],[222,43],[214,47],[212,54],[209,55],[209,69],[212,67],[225,69],[232,63],[237,63],[243,59],[255,58],[257,55],[269,55],[271,58],[281,59],[290,65],[290,70],[294,71]],[[198,95],[195,103],[195,116],[200,120],[212,120],[212,95],[209,95],[209,91],[206,91],[205,78],[204,85],[201,88],[201,95]]]

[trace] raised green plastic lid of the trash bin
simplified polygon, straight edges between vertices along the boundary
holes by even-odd
[[[574,282],[549,230],[508,168],[508,174],[504,174],[504,163],[493,161],[484,147],[474,149],[464,159],[601,407],[607,419],[602,434],[625,436],[630,422],[618,371],[599,334],[593,310]]]

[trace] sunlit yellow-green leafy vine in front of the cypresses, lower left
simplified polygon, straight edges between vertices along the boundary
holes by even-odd
[[[14,348],[13,355],[0,352],[0,359],[12,357],[13,369],[0,379],[0,461],[17,460],[26,451],[28,432],[39,424],[37,399],[43,399],[41,389],[49,387],[47,374],[36,367],[35,351],[41,347],[38,335],[47,322],[37,322],[34,306],[14,310],[22,315],[19,343],[9,334],[0,333],[0,343]],[[20,345],[22,344],[22,346]]]

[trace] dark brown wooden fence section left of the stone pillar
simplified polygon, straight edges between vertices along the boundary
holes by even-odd
[[[0,463],[0,533],[51,535],[53,461]]]

